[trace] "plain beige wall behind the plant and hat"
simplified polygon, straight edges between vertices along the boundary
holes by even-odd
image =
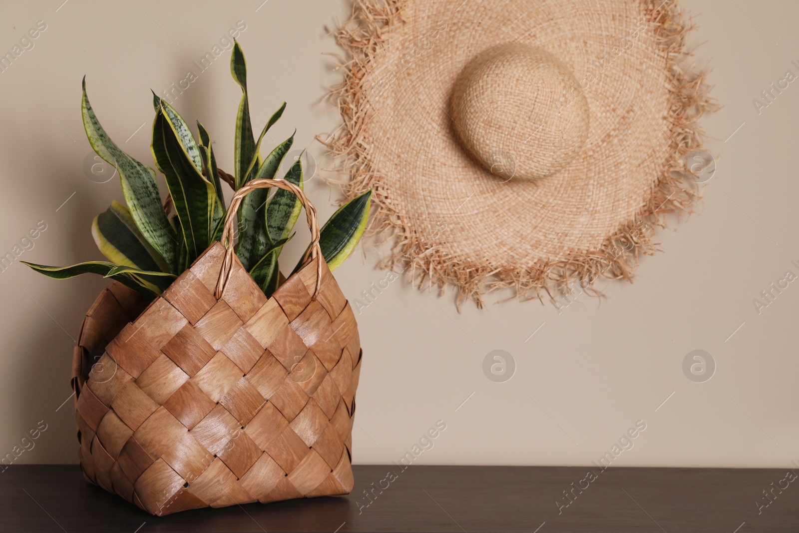
[[[272,137],[296,128],[296,146],[320,156],[313,137],[339,125],[336,111],[319,104],[324,86],[338,79],[323,55],[336,51],[325,26],[347,18],[345,2],[268,0],[256,10],[260,1],[0,4],[2,52],[46,22],[34,48],[0,74],[0,251],[44,221],[20,259],[99,259],[89,224],[121,193],[116,178],[99,184],[84,173],[81,77],[112,137],[150,162],[149,89],[160,93],[184,79],[237,21],[246,24],[240,42],[256,122],[288,100]],[[709,79],[725,105],[705,121],[721,157],[701,213],[660,233],[665,253],[644,258],[635,284],[606,284],[605,300],[581,296],[561,313],[533,301],[485,311],[466,305],[458,314],[451,292],[431,298],[394,281],[358,316],[356,462],[398,459],[437,420],[447,428],[419,463],[587,464],[638,420],[646,430],[616,464],[799,462],[799,281],[760,314],[753,305],[786,270],[799,273],[791,265],[799,264],[799,82],[760,114],[752,103],[786,70],[799,74],[791,64],[799,63],[799,4],[684,5],[701,26],[692,42],[707,42],[696,59],[712,59]],[[239,97],[228,62],[225,52],[175,101],[209,129],[225,169]],[[335,197],[318,177],[308,191],[326,219]],[[351,299],[385,277],[366,248],[365,260],[356,253],[336,271]],[[64,404],[73,338],[102,286],[93,277],[48,280],[19,264],[0,274],[0,455],[43,420],[46,431],[18,462],[76,462],[72,404]],[[698,348],[718,367],[705,383],[682,372],[683,358]],[[518,367],[506,383],[483,375],[483,358],[495,349],[510,352]]]

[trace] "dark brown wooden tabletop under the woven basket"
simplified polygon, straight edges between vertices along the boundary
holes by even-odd
[[[587,471],[356,466],[348,497],[157,518],[86,483],[77,466],[12,466],[0,473],[0,531],[799,531],[799,479],[785,470],[594,467],[593,481]]]

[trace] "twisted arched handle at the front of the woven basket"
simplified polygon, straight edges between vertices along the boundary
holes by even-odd
[[[270,187],[277,187],[279,189],[287,190],[290,193],[294,193],[296,197],[300,200],[300,204],[305,208],[305,214],[308,215],[308,228],[311,229],[311,246],[308,248],[308,251],[305,252],[303,257],[303,265],[308,263],[308,259],[313,261],[316,258],[322,257],[322,250],[319,247],[319,224],[316,221],[316,208],[313,206],[308,197],[305,196],[305,193],[302,192],[302,189],[294,185],[291,181],[286,180],[271,180],[271,179],[260,179],[260,180],[252,180],[248,181],[245,185],[237,191],[236,194],[233,195],[233,200],[230,201],[230,206],[228,208],[228,214],[225,215],[225,226],[222,229],[222,245],[225,246],[227,252],[225,252],[225,261],[222,262],[222,269],[219,272],[219,280],[217,280],[217,290],[214,292],[214,296],[216,296],[217,300],[222,297],[222,292],[225,292],[225,285],[228,284],[228,279],[230,277],[230,272],[233,267],[233,254],[235,253],[235,249],[233,247],[233,233],[234,228],[236,227],[236,213],[239,210],[241,205],[241,201],[244,199],[248,193],[252,193],[255,189],[269,189]],[[316,261],[316,287],[313,289],[313,294],[311,296],[312,300],[316,300],[316,295],[319,293],[320,284],[322,281],[322,261]]]

